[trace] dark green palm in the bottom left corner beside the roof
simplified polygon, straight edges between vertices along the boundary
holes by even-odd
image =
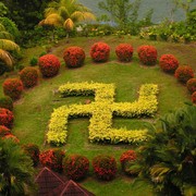
[[[33,162],[19,144],[0,139],[0,195],[25,195],[33,187]]]

